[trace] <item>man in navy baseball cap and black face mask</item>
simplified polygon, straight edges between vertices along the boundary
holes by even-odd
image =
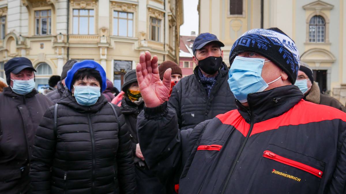
[[[180,129],[193,128],[203,120],[236,108],[227,84],[228,68],[222,61],[224,43],[211,33],[200,34],[193,42],[192,75],[182,78],[172,90],[169,106],[178,117]],[[222,89],[220,89],[222,88]]]

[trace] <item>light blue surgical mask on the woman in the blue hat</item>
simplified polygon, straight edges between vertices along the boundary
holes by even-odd
[[[94,105],[101,96],[100,87],[93,86],[73,86],[74,97],[78,104],[82,106]]]

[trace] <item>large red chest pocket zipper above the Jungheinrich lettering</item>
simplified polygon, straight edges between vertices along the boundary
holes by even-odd
[[[282,157],[282,156],[279,156],[277,154],[274,154],[273,152],[271,151],[264,151],[263,152],[263,157],[265,158],[269,158],[269,159],[272,159],[276,162],[280,162],[280,163],[283,163],[283,164],[286,164],[286,165],[289,165],[289,166],[293,166],[293,167],[296,167],[296,168],[299,168],[305,172],[308,172],[310,174],[313,174],[319,178],[322,178],[322,174],[323,172],[320,171],[319,169],[316,169],[316,168],[313,168],[309,165],[306,165],[306,164],[303,164],[301,162],[297,162],[297,161],[294,161],[292,159],[289,159],[289,158],[285,158],[285,157]]]

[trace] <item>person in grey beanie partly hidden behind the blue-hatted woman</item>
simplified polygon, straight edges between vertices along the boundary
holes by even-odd
[[[76,62],[77,62],[76,60],[70,59],[65,63],[63,67],[63,72],[61,73],[61,81],[59,81],[58,84],[56,85],[56,90],[53,90],[46,95],[54,103],[57,103],[58,100],[62,97],[66,88],[65,78],[67,76],[67,71],[69,71]]]

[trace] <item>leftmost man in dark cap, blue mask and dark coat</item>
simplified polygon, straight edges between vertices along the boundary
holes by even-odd
[[[29,59],[10,59],[4,70],[9,87],[0,93],[0,193],[27,193],[36,129],[53,103],[37,93]]]

